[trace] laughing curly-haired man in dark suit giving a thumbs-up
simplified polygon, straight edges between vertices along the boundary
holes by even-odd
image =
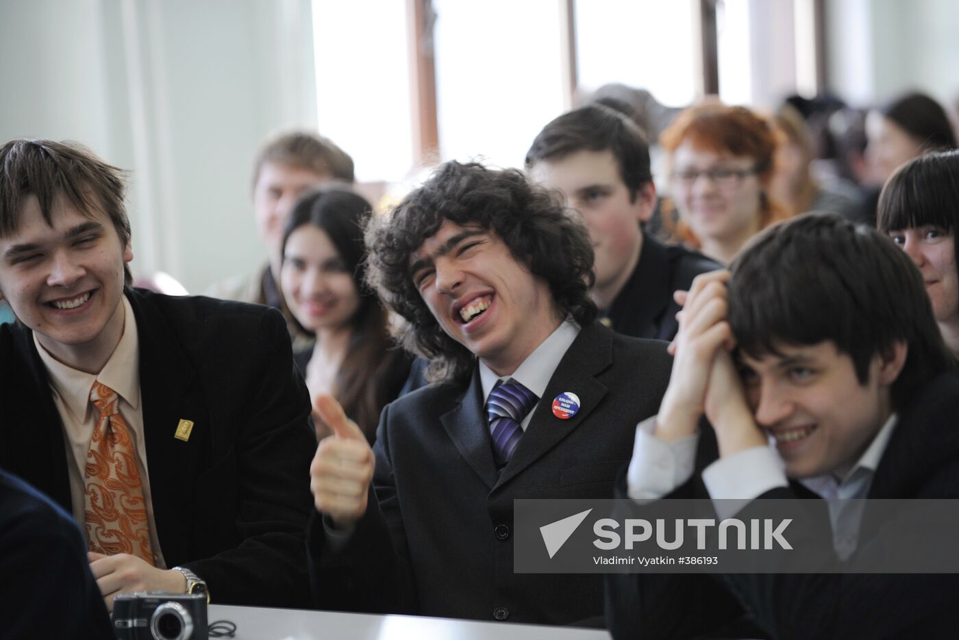
[[[366,239],[371,283],[437,381],[387,405],[375,451],[321,400],[337,437],[311,469],[319,601],[600,625],[596,577],[513,573],[513,500],[611,495],[666,344],[594,321],[588,232],[520,171],[447,163]]]

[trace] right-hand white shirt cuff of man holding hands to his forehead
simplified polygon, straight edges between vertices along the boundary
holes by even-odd
[[[720,518],[732,517],[766,491],[789,486],[783,459],[769,446],[719,458],[703,470],[703,483]]]

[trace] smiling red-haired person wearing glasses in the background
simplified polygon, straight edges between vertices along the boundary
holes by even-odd
[[[780,134],[743,106],[691,106],[660,136],[668,153],[672,240],[729,264],[762,229],[787,217],[769,195]]]

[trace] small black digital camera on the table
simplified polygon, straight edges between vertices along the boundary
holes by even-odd
[[[125,593],[113,601],[117,640],[207,640],[206,596]]]

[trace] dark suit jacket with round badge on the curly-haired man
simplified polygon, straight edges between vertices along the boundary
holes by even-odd
[[[602,613],[599,576],[513,573],[513,500],[608,498],[636,424],[655,413],[671,360],[662,342],[580,331],[502,472],[493,461],[479,371],[386,406],[375,496],[346,548],[331,554],[311,523],[323,606],[569,624]],[[579,397],[561,421],[551,401]]]

